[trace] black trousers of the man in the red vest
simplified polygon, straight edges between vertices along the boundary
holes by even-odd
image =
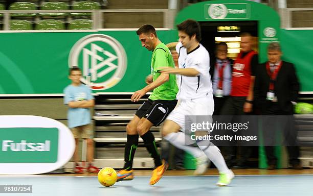
[[[223,105],[220,115],[230,115],[234,117],[236,115],[245,115],[245,112],[243,112],[243,105],[246,99],[247,97],[245,96],[230,96]],[[234,119],[230,120],[234,121]],[[236,149],[236,146],[225,146],[223,148],[226,161],[231,161],[231,159],[234,159],[237,154],[238,158],[234,164],[241,165],[247,162],[252,152],[250,146],[239,146],[237,153]]]

